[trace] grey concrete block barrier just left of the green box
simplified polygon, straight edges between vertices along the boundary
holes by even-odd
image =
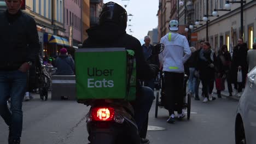
[[[53,75],[51,100],[76,100],[75,75]]]

